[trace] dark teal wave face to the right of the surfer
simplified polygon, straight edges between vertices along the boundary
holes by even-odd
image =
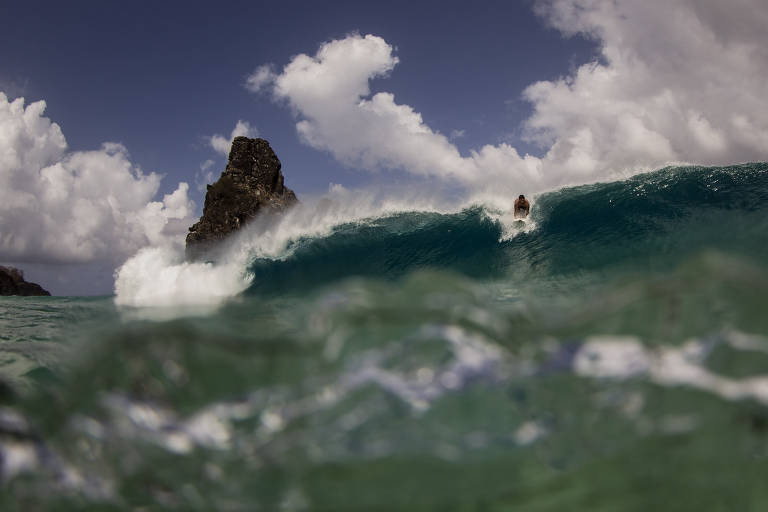
[[[555,271],[663,268],[704,249],[763,256],[768,166],[670,167],[544,195],[536,234]]]

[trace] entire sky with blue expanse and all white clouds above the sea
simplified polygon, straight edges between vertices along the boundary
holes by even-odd
[[[768,160],[766,26],[764,0],[5,2],[0,264],[111,293],[234,135],[300,199]]]

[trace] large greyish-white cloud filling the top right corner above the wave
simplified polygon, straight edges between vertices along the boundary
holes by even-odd
[[[566,35],[599,41],[602,60],[524,95],[531,140],[577,175],[669,161],[725,164],[768,152],[768,11],[762,0],[547,0]]]

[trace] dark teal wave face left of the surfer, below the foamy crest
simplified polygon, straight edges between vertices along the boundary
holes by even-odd
[[[283,259],[256,259],[252,291],[303,290],[350,276],[393,279],[426,268],[468,276],[504,269],[501,226],[479,208],[398,213],[344,223],[321,238],[292,241]]]

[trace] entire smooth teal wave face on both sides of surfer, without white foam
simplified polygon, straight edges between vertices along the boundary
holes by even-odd
[[[417,269],[546,279],[613,267],[664,270],[704,250],[763,258],[766,209],[766,164],[670,167],[543,194],[528,221],[535,229],[504,226],[481,207],[343,223],[291,241],[283,258],[257,258],[251,292],[306,290],[351,276],[393,279]]]

